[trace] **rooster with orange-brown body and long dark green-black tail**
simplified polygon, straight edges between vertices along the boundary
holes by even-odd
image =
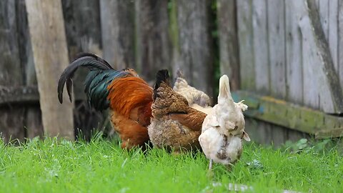
[[[84,92],[89,105],[96,110],[109,108],[111,125],[121,138],[121,148],[144,147],[149,142],[146,127],[150,124],[153,89],[134,69],[115,70],[94,54],[81,54],[61,74],[59,102],[64,84],[71,100],[71,78],[79,67],[88,68]]]

